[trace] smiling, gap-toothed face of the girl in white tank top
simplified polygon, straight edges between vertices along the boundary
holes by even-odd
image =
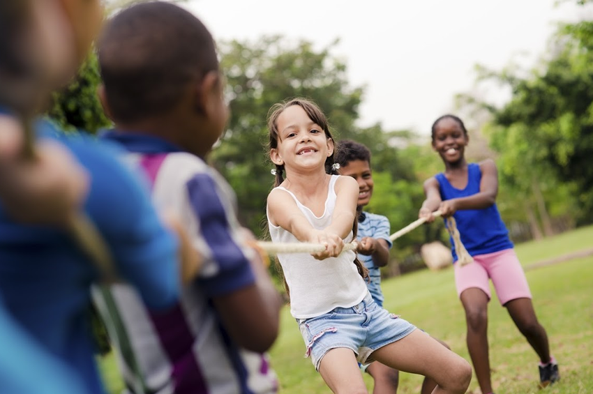
[[[276,124],[278,146],[270,150],[274,164],[284,165],[287,170],[320,167],[325,171],[325,160],[333,153],[333,140],[300,105],[285,108]]]

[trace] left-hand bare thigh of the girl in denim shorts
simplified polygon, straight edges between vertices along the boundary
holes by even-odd
[[[319,373],[336,394],[368,394],[354,351],[345,347],[331,349],[321,359]]]

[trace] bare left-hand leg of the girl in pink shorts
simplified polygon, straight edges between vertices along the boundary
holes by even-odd
[[[467,323],[467,350],[474,364],[482,393],[492,393],[490,359],[488,358],[488,296],[471,287],[461,293],[461,303]]]

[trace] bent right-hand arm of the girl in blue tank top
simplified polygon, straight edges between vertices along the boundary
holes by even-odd
[[[498,174],[494,160],[487,159],[480,163],[482,173],[480,192],[469,197],[448,199],[439,207],[444,217],[464,209],[484,209],[495,204],[498,194]]]

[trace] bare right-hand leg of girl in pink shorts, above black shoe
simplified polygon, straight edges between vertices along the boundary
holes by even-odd
[[[504,304],[511,319],[539,356],[541,363],[550,361],[550,345],[546,330],[539,324],[530,298],[517,298]]]

